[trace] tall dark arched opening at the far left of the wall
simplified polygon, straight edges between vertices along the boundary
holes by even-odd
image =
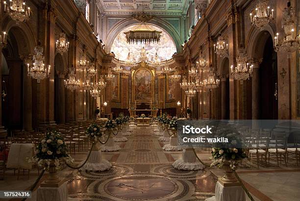
[[[13,26],[7,34],[7,46],[2,49],[2,79],[7,96],[2,101],[2,125],[10,130],[32,130],[33,111],[31,78],[23,59],[30,54],[30,46],[23,29]],[[3,71],[4,70],[4,71]]]

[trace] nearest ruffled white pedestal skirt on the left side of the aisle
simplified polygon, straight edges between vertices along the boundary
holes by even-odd
[[[84,161],[82,161],[79,165],[82,165]],[[100,143],[97,141],[91,151],[88,161],[79,169],[79,171],[100,172],[109,170],[111,167],[112,165],[109,161],[102,160]]]

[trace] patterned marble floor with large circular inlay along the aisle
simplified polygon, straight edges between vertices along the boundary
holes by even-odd
[[[87,173],[65,168],[60,177],[68,183],[70,200],[77,201],[204,201],[214,196],[218,177],[223,171],[207,168],[200,171],[181,171],[172,163],[181,158],[181,151],[163,151],[168,142],[159,142],[150,127],[137,127],[127,142],[116,143],[121,151],[103,152],[103,159],[113,167],[104,172]],[[76,152],[75,163],[85,160],[88,149]],[[198,151],[209,164],[210,153]],[[300,198],[300,167],[279,166],[257,169],[245,161],[237,173],[255,201],[298,201]],[[21,175],[19,180],[9,170],[0,180],[0,190],[26,190],[37,178],[37,171]],[[45,180],[44,175],[41,181]],[[36,189],[32,198],[36,200]],[[247,198],[247,200],[249,200]]]

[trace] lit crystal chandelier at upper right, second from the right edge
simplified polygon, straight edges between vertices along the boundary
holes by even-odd
[[[255,10],[250,13],[251,24],[261,30],[265,25],[274,20],[274,9],[270,10],[268,3],[269,0],[259,0],[255,6]]]

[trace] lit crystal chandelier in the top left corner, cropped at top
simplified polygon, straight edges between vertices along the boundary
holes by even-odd
[[[20,22],[25,22],[30,17],[30,7],[26,8],[24,0],[9,0],[9,3],[6,0],[4,3],[4,11],[16,21],[17,24]]]

